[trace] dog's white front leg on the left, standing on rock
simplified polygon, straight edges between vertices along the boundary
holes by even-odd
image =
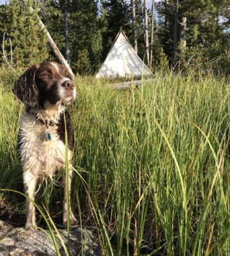
[[[26,229],[37,230],[36,215],[34,207],[34,194],[36,188],[36,177],[29,172],[23,173],[23,183],[26,194]]]

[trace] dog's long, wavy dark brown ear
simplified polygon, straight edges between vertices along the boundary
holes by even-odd
[[[26,108],[38,108],[40,95],[35,76],[38,65],[26,70],[13,86],[13,93],[25,104]]]

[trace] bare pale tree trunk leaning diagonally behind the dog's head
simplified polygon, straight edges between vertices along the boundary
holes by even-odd
[[[30,7],[30,12],[33,13],[34,9],[32,7]],[[59,49],[57,48],[57,45],[55,44],[54,40],[52,39],[52,37],[50,36],[49,31],[45,28],[45,25],[43,24],[42,20],[38,17],[38,24],[40,25],[40,27],[43,29],[45,35],[47,35],[48,38],[48,43],[50,45],[50,48],[52,49],[52,51],[54,52],[54,54],[56,55],[57,59],[63,64],[65,65],[65,67],[68,69],[68,71],[70,72],[70,74],[72,74],[73,77],[73,71],[70,68],[70,66],[68,65],[67,61],[65,60],[65,58],[63,57],[63,54],[61,54],[61,52],[59,51]]]

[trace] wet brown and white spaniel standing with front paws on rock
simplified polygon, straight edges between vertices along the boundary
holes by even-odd
[[[34,201],[38,180],[52,177],[57,169],[65,167],[65,120],[68,161],[72,159],[73,131],[65,106],[75,100],[76,90],[70,72],[59,63],[47,61],[26,70],[15,82],[13,93],[26,107],[20,117],[18,152],[23,168],[25,193]],[[72,175],[69,164],[69,190]],[[66,198],[69,195],[66,195],[65,175],[63,184],[63,224],[66,225]],[[36,230],[35,207],[28,198],[26,228]],[[70,223],[77,223],[71,207]]]

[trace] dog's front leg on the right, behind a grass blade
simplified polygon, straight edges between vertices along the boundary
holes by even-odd
[[[69,202],[69,211],[70,211],[70,224],[76,225],[77,219],[75,218],[72,207],[71,207],[71,199],[70,199],[70,191],[71,191],[71,181],[73,177],[73,170],[70,166],[68,168],[68,195],[67,195],[67,187],[66,187],[66,176],[63,174],[63,187],[64,187],[64,198],[63,198],[63,225],[67,225],[67,196]]]

